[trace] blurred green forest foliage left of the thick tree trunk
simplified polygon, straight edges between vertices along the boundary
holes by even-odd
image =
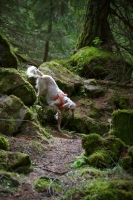
[[[81,31],[86,3],[87,0],[78,3],[57,0],[51,7],[48,0],[45,3],[43,0],[1,1],[0,31],[15,50],[18,48],[19,53],[28,54],[39,64],[43,60],[44,46],[48,40],[48,60],[66,58],[72,53]],[[49,33],[50,23],[52,29]]]

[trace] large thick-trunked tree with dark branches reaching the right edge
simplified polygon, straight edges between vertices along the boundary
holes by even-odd
[[[76,49],[94,45],[95,38],[99,38],[104,49],[115,50],[119,54],[127,52],[132,57],[132,24],[133,1],[88,0],[83,30]]]

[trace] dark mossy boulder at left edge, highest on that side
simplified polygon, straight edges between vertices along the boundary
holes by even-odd
[[[8,41],[0,34],[0,68],[16,68],[18,61]]]

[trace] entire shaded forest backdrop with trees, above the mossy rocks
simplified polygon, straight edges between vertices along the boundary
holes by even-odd
[[[38,64],[66,59],[75,47],[107,47],[107,43],[111,51],[133,63],[133,2],[129,0],[1,0],[0,32],[16,53]]]

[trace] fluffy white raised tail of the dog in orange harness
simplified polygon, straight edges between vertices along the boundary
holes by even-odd
[[[26,74],[29,78],[38,78],[40,76],[43,76],[43,73],[40,72],[35,66],[28,67]]]

